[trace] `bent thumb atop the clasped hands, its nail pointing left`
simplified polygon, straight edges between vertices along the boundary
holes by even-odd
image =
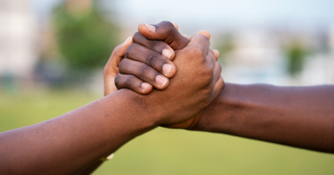
[[[162,40],[174,51],[183,49],[189,43],[171,22],[160,22],[159,24],[139,24],[138,32],[148,40]]]

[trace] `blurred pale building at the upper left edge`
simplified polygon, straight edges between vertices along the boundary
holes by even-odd
[[[38,60],[31,0],[0,0],[0,77],[30,78]]]

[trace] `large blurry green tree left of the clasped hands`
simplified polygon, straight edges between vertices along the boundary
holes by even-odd
[[[120,29],[104,18],[99,1],[67,0],[53,12],[58,48],[70,69],[89,72],[106,64]]]

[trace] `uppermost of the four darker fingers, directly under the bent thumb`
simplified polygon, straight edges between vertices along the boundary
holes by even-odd
[[[166,42],[159,40],[148,40],[143,37],[141,33],[138,32],[134,34],[132,40],[134,41],[134,43],[141,44],[144,47],[148,47],[154,51],[157,51],[169,60],[173,60],[175,58],[174,50],[168,44],[166,44]]]

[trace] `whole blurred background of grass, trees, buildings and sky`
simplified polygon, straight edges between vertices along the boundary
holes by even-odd
[[[230,83],[334,83],[331,0],[0,0],[0,131],[103,96],[102,69],[140,23],[212,34]],[[95,174],[333,174],[334,156],[266,142],[157,128]]]

